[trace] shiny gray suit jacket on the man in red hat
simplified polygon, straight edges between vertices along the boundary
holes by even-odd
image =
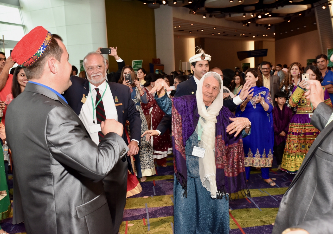
[[[101,180],[128,151],[125,141],[111,132],[97,146],[61,98],[32,83],[8,106],[7,119],[27,233],[110,233]]]

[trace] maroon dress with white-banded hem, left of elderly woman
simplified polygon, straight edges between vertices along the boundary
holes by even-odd
[[[147,98],[149,102],[147,104],[141,103],[141,107],[144,111],[145,116],[149,116],[151,114],[151,129],[156,130],[157,126],[161,122],[165,113],[160,109],[157,105],[156,100],[154,99],[153,94],[149,93],[149,90],[146,87],[143,87],[147,93]],[[152,111],[150,111],[152,108]],[[154,158],[162,159],[167,156],[167,154],[172,152],[172,143],[170,140],[170,131],[169,129],[163,135],[154,136],[152,138],[153,141],[153,150],[154,150]],[[157,161],[158,164],[165,163],[165,159],[161,163],[160,160]]]

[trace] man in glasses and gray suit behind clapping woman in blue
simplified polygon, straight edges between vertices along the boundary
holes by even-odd
[[[273,76],[272,74],[270,74],[271,69],[272,65],[270,64],[270,62],[264,61],[260,64],[264,87],[269,89],[269,93],[271,94],[271,97],[273,97],[273,105],[276,106],[274,95],[279,92],[280,78],[278,76]]]

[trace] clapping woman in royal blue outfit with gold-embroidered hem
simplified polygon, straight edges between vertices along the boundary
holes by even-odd
[[[236,117],[247,117],[252,124],[251,137],[243,140],[246,179],[250,178],[251,166],[261,167],[261,177],[271,186],[269,167],[273,161],[273,102],[269,90],[263,87],[261,73],[256,68],[246,71],[245,81],[250,81],[253,90],[247,99],[237,107]]]

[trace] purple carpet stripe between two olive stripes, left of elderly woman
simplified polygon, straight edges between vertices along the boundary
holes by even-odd
[[[148,208],[150,218],[173,216],[173,206],[161,206]],[[147,218],[146,208],[124,210],[123,221],[131,221]]]

